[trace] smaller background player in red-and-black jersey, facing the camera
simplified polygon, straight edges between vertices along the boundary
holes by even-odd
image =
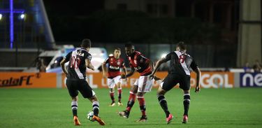
[[[117,85],[118,91],[118,106],[122,106],[121,96],[122,96],[122,83],[121,83],[121,72],[120,68],[124,71],[124,76],[126,76],[126,66],[124,66],[124,59],[120,58],[121,49],[115,48],[114,55],[105,59],[102,64],[103,78],[106,78],[105,64],[108,64],[108,87],[110,88],[110,98],[112,103],[110,106],[115,106],[115,85]]]

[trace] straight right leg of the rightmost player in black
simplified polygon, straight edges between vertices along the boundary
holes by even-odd
[[[186,124],[188,122],[188,112],[190,104],[190,76],[181,77],[180,88],[182,88],[184,92],[184,115],[182,123]]]

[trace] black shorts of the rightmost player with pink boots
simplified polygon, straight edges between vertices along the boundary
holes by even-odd
[[[163,90],[169,91],[177,83],[180,84],[182,90],[190,90],[190,76],[188,75],[179,75],[179,74],[168,74],[166,78],[161,83],[161,88]]]

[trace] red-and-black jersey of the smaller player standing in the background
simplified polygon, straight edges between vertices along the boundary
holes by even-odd
[[[110,56],[105,59],[105,64],[108,64],[108,78],[115,78],[121,75],[120,68],[124,67],[124,59]]]

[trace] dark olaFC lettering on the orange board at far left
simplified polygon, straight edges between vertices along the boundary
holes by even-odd
[[[9,86],[21,86],[23,83],[26,85],[32,85],[30,83],[31,77],[34,75],[29,76],[21,76],[20,78],[9,78],[9,79],[0,79],[0,87],[9,87]]]

